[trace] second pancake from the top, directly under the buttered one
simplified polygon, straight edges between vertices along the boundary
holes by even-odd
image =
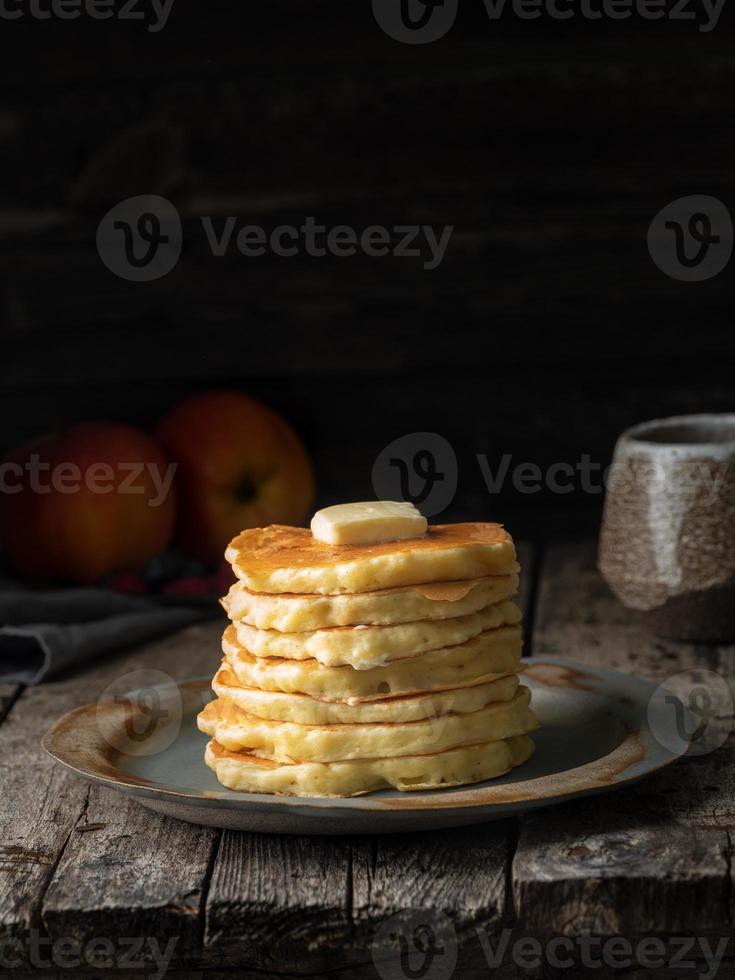
[[[253,592],[235,582],[222,600],[232,620],[282,633],[328,629],[331,626],[381,626],[427,619],[467,616],[514,596],[517,566],[508,575],[486,575],[457,582],[401,586],[353,595]]]

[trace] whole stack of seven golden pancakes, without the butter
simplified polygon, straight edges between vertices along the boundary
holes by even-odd
[[[225,786],[354,796],[457,786],[533,752],[519,685],[513,541],[498,524],[329,545],[304,528],[243,531],[232,620],[199,715]]]

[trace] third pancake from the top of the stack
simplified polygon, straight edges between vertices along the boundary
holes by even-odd
[[[487,630],[515,625],[521,618],[518,606],[505,601],[469,616],[394,626],[331,626],[306,633],[281,633],[241,621],[236,630],[238,641],[256,657],[318,660],[325,667],[349,664],[357,670],[368,670],[427,650],[466,643]]]

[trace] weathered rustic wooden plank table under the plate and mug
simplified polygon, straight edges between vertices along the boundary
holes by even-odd
[[[706,668],[732,681],[735,648],[642,632],[594,570],[591,545],[525,548],[522,558],[527,652],[653,679]],[[69,679],[0,690],[0,971],[21,975],[24,964],[46,977],[102,977],[145,957],[155,976],[167,962],[169,975],[191,978],[471,980],[490,976],[495,951],[495,976],[603,977],[625,962],[627,939],[649,969],[634,965],[626,977],[735,975],[735,944],[722,945],[735,915],[732,739],[631,788],[520,820],[362,838],[177,823],[44,755],[49,725],[120,674],[212,671],[220,630],[192,627]],[[373,939],[394,916],[389,933],[407,923],[408,951],[428,942],[428,958],[377,969]],[[601,945],[585,947],[585,935],[624,938],[599,967]],[[553,937],[573,942],[548,946]],[[534,965],[539,948],[543,967]],[[713,973],[709,951],[718,949]],[[92,953],[104,969],[85,965]]]

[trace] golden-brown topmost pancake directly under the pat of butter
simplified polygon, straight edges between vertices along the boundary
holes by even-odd
[[[505,575],[515,569],[513,539],[500,524],[434,524],[420,538],[330,545],[301,527],[242,531],[225,558],[256,592],[338,595]]]

